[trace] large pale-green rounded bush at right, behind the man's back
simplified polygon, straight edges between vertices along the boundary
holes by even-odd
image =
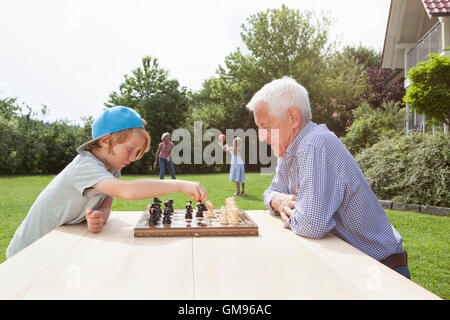
[[[383,140],[356,161],[378,198],[450,207],[450,137],[415,133]]]

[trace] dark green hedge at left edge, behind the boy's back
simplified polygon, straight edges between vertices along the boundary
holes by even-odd
[[[92,118],[84,127],[68,120],[46,123],[20,114],[15,99],[0,99],[0,175],[59,173],[91,139]]]

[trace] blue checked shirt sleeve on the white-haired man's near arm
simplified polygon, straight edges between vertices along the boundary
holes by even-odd
[[[304,158],[298,160],[297,200],[285,227],[300,236],[319,239],[336,226],[333,216],[344,188],[323,147],[307,146],[303,151]]]

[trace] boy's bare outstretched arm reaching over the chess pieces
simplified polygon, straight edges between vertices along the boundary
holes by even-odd
[[[96,190],[124,200],[143,200],[157,196],[181,192],[195,202],[206,202],[208,193],[198,182],[184,180],[119,180],[106,178],[93,186]]]

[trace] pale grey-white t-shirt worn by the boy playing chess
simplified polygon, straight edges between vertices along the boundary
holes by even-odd
[[[39,194],[17,228],[6,250],[6,258],[61,225],[84,221],[85,210],[97,209],[108,197],[92,186],[112,177],[120,178],[120,171],[108,171],[89,151],[78,154]]]

